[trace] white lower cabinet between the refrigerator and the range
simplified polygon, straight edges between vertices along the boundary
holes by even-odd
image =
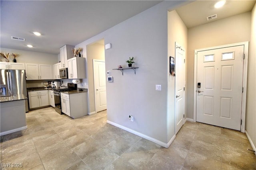
[[[29,108],[49,106],[48,90],[28,92]]]

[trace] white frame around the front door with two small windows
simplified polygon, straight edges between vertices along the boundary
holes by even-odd
[[[248,51],[249,51],[249,41],[241,42],[241,43],[234,43],[228,45],[220,45],[215,47],[208,47],[203,49],[196,49],[194,51],[194,122],[196,122],[196,81],[197,81],[197,52],[199,51],[206,51],[212,49],[220,49],[225,47],[233,47],[238,45],[244,45],[244,70],[243,70],[243,93],[242,93],[242,125],[241,125],[241,132],[245,132],[245,113],[246,113],[246,93],[247,93],[247,74],[248,74]]]

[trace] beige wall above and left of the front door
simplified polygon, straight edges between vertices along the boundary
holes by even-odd
[[[251,12],[188,29],[187,117],[193,119],[194,50],[250,41]]]

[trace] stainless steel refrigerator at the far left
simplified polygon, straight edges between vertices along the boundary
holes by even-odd
[[[28,97],[25,70],[0,70],[0,96],[23,94]],[[25,100],[28,112],[28,100]]]

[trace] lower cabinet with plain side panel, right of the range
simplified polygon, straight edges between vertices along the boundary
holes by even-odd
[[[60,96],[63,113],[73,119],[88,115],[87,92],[73,94],[60,93]]]

